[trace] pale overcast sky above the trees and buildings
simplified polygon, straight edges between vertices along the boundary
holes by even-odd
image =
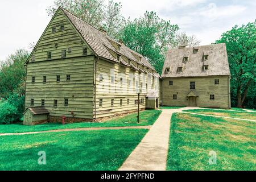
[[[256,1],[249,0],[114,0],[121,2],[125,18],[155,11],[178,24],[180,31],[195,35],[201,45],[213,43],[235,24],[253,22]],[[1,0],[0,60],[18,48],[37,42],[49,23],[46,8],[53,0]]]

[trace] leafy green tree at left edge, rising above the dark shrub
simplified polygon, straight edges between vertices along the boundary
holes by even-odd
[[[24,49],[18,49],[0,65],[0,98],[11,93],[24,94],[26,69],[24,63],[29,54]]]

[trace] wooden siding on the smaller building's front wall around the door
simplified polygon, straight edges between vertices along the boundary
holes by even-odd
[[[220,84],[215,85],[214,80],[219,79]],[[173,85],[169,85],[169,81]],[[162,101],[164,106],[188,106],[187,94],[191,91],[190,82],[195,81],[197,106],[222,107],[229,106],[229,76],[189,77],[189,78],[164,78]],[[173,94],[177,94],[177,100],[173,100]],[[210,94],[214,94],[214,100],[210,100]]]

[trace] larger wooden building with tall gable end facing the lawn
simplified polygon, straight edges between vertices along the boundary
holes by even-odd
[[[150,63],[61,7],[25,65],[26,109],[44,107],[50,121],[92,121],[133,112],[138,103],[158,107],[159,75]]]

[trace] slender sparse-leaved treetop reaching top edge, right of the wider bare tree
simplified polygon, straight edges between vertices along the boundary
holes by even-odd
[[[121,3],[113,1],[109,1],[105,9],[103,27],[112,38],[117,38],[119,30],[125,22],[125,18],[121,15],[121,9]]]

